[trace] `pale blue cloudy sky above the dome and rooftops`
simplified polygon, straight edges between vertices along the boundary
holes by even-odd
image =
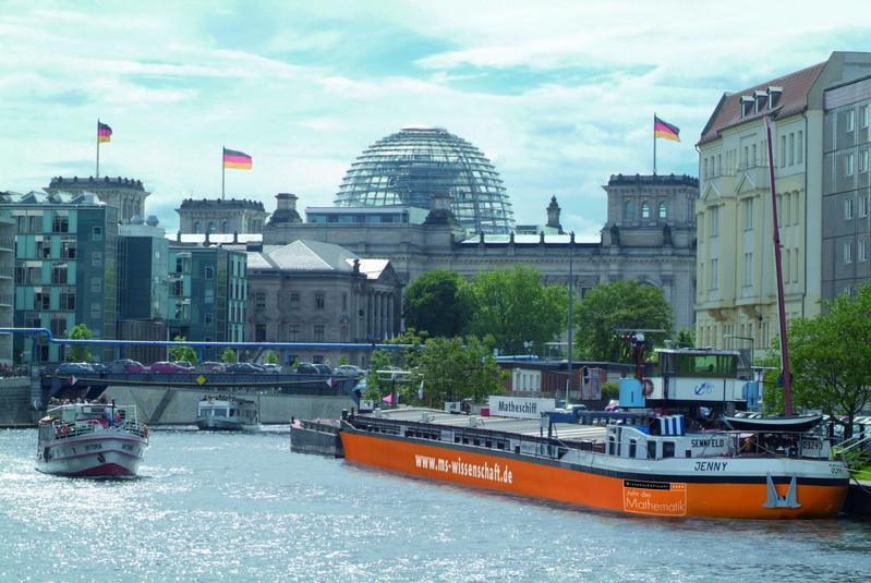
[[[142,180],[169,232],[187,197],[292,192],[331,206],[354,158],[407,125],[445,127],[501,174],[518,223],[596,235],[602,185],[652,171],[654,112],[680,127],[657,171],[698,175],[721,96],[871,50],[867,0],[40,2],[0,0],[0,191]]]

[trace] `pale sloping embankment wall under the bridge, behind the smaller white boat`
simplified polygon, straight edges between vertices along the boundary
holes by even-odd
[[[135,404],[140,418],[152,425],[186,425],[196,418],[196,404],[205,394],[217,396],[202,389],[166,387],[108,387],[104,393],[118,404]],[[350,397],[285,394],[227,391],[240,399],[259,402],[261,423],[285,424],[295,418],[339,418],[342,409],[354,406]]]

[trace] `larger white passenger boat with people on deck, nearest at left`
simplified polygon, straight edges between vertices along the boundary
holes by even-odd
[[[148,447],[148,427],[135,406],[73,403],[39,420],[36,469],[72,477],[135,476]]]

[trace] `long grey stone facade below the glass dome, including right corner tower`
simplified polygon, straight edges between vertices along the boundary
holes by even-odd
[[[298,239],[322,241],[359,256],[383,257],[390,260],[403,286],[430,269],[450,269],[471,278],[481,270],[518,263],[541,271],[547,283],[567,284],[571,271],[578,297],[598,283],[633,279],[663,290],[676,328],[691,327],[698,181],[685,175],[615,174],[603,187],[608,196],[608,221],[600,236],[584,241],[570,233],[560,234],[555,198],[546,208],[549,232],[541,230],[537,234],[479,233],[465,238],[463,229],[451,221],[425,220],[419,224],[349,220],[269,223],[263,241],[264,245],[285,245]],[[433,201],[437,204],[438,197]],[[630,201],[631,208],[627,206]],[[645,202],[652,205],[646,210]]]

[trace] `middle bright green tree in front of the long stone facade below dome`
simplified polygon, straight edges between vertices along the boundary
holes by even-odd
[[[541,274],[525,265],[479,271],[464,289],[472,335],[492,335],[503,353],[522,354],[524,342],[549,342],[566,327],[566,287],[543,284]]]

